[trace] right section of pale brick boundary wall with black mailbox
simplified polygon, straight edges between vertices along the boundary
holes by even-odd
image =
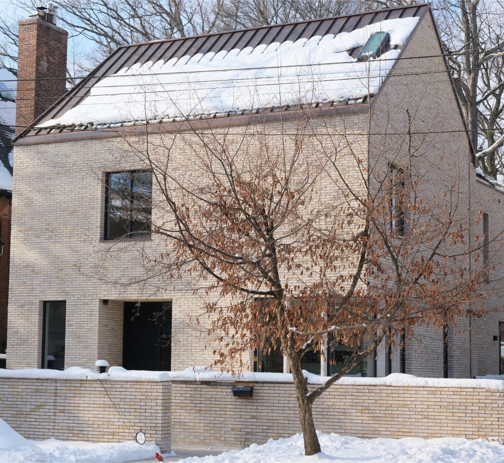
[[[292,383],[172,381],[173,445],[242,448],[301,432]],[[314,404],[317,429],[355,437],[504,438],[504,393],[484,388],[333,385]]]

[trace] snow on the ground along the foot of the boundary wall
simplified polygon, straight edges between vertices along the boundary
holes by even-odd
[[[56,439],[29,441],[0,420],[0,463],[119,463],[154,460],[159,451],[153,443],[139,445],[134,441],[96,444]],[[319,433],[322,453],[304,456],[303,439],[296,434],[288,439],[253,444],[243,450],[220,455],[188,457],[185,463],[494,463],[504,461],[504,446],[484,439],[461,438],[359,439],[338,434]],[[165,453],[163,456],[173,455]]]

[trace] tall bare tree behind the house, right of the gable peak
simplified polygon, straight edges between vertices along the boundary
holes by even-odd
[[[439,2],[437,18],[479,165],[489,179],[502,175],[504,125],[501,2]]]

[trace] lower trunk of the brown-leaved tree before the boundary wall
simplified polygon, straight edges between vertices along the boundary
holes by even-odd
[[[308,398],[308,386],[306,379],[303,376],[301,367],[301,356],[296,352],[288,354],[290,363],[290,370],[294,379],[294,386],[296,388],[297,407],[299,410],[299,423],[301,424],[301,431],[304,440],[304,454],[314,455],[320,453],[319,437],[313,422],[313,413],[311,410],[312,402]]]

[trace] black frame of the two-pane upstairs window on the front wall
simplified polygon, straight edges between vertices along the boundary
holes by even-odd
[[[110,234],[110,176],[114,174],[129,174],[130,175],[130,188],[129,188],[129,203],[130,203],[130,208],[128,211],[128,214],[131,216],[133,215],[133,209],[134,209],[134,198],[133,198],[133,193],[134,193],[134,185],[135,185],[135,174],[138,173],[150,173],[151,174],[151,182],[150,182],[150,188],[151,188],[151,197],[150,197],[150,214],[149,214],[149,221],[146,222],[146,229],[144,231],[142,230],[135,230],[134,226],[135,224],[138,223],[138,221],[135,220],[128,220],[128,231],[125,232],[122,235],[114,235],[114,236],[109,236]],[[150,226],[150,221],[152,220],[152,171],[148,169],[136,169],[136,170],[118,170],[118,171],[110,171],[105,173],[105,207],[104,207],[104,226],[103,226],[103,240],[105,241],[110,241],[110,240],[116,240],[116,239],[146,239],[150,238],[152,231],[151,231],[151,226]]]

